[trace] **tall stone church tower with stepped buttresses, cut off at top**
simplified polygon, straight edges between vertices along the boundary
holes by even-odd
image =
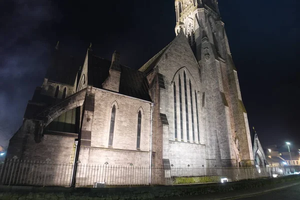
[[[202,103],[205,105],[202,116],[213,116],[212,120],[205,122],[205,129],[213,126],[216,134],[214,139],[206,137],[206,159],[211,156],[207,153],[207,147],[215,145],[212,147],[214,158],[220,159],[222,165],[235,165],[234,160],[237,166],[252,165],[247,113],[218,2],[175,0],[175,11],[175,33],[184,33],[200,67]],[[209,139],[215,144],[210,143]]]

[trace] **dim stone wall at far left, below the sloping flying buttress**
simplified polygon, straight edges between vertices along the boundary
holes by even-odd
[[[34,140],[35,123],[24,120],[20,129],[9,141],[6,158],[16,156],[20,160],[39,160],[53,163],[72,163],[74,137],[45,134],[39,143]]]

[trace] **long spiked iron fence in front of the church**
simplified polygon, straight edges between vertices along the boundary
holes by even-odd
[[[117,166],[49,161],[0,162],[0,184],[36,186],[137,186],[239,181],[299,173],[300,166],[284,167],[170,167]],[[72,185],[72,182],[74,185]]]

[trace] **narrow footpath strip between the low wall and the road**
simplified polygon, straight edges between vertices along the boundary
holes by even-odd
[[[260,188],[246,189],[246,190],[234,190],[229,192],[215,192],[209,194],[192,195],[192,196],[180,196],[180,197],[169,197],[169,198],[157,198],[157,200],[223,200],[223,199],[234,199],[240,197],[247,197],[257,194],[262,194],[286,187],[291,187],[300,184],[299,180],[291,182],[282,182],[275,185],[264,186]]]

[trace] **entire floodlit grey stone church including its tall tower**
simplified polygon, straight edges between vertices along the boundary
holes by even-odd
[[[176,37],[138,70],[53,52],[7,157],[134,166],[254,164],[216,0],[175,0]],[[82,66],[82,67],[81,67]]]

